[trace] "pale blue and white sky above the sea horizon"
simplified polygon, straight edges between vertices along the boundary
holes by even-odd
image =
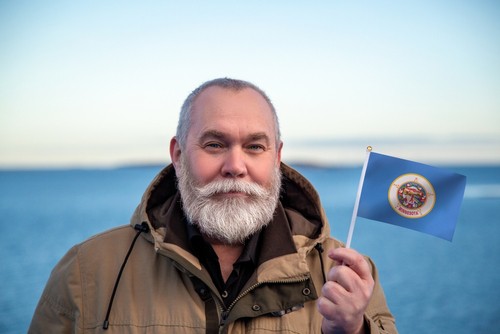
[[[216,77],[266,91],[287,162],[500,163],[498,1],[0,0],[0,168],[168,162]]]

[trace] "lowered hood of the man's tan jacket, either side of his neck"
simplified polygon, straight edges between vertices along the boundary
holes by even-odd
[[[313,185],[292,167],[281,163],[282,185],[279,200],[288,218],[297,248],[312,248],[330,235],[328,221]],[[184,219],[179,210],[180,194],[172,164],[165,167],[150,183],[135,210],[131,225],[147,222],[151,231],[147,238],[161,249],[167,228],[161,217]],[[182,224],[178,224],[182,225]]]

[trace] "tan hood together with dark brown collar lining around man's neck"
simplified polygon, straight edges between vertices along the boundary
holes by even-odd
[[[326,216],[314,187],[284,163],[281,164],[281,171],[280,201],[273,223],[264,231],[262,241],[265,251],[260,256],[260,263],[290,254],[292,250],[296,252],[299,248],[312,249],[317,242],[322,242],[329,235]],[[185,251],[189,249],[185,224],[178,223],[185,218],[176,182],[175,169],[168,165],[151,182],[132,217],[132,225],[148,222],[151,227],[148,239],[154,242],[157,250],[164,248],[165,244],[175,245],[175,248]],[[276,242],[278,238],[280,242]],[[270,249],[275,252],[268,252]],[[191,261],[199,266],[197,260]]]

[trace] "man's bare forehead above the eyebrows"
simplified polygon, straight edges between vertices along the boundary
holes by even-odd
[[[265,132],[274,140],[275,126],[271,107],[257,91],[209,87],[193,103],[189,132]]]

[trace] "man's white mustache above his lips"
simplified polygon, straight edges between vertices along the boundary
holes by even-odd
[[[267,189],[256,183],[234,179],[213,181],[203,187],[197,187],[197,190],[202,197],[210,197],[230,192],[244,193],[252,197],[265,196],[268,194]]]

